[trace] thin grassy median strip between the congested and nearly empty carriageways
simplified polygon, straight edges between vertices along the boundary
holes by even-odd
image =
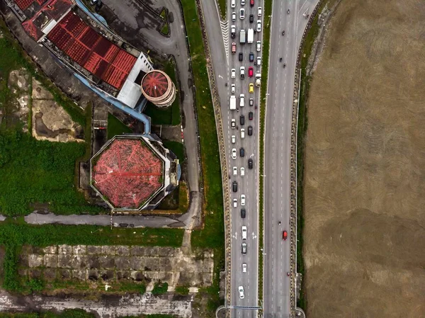
[[[266,120],[266,93],[267,93],[267,81],[268,81],[268,57],[270,54],[270,24],[271,19],[268,16],[271,16],[271,8],[273,7],[272,0],[264,1],[264,28],[263,28],[263,52],[261,52],[261,58],[263,59],[263,67],[261,69],[261,96],[260,96],[260,159],[259,159],[259,246],[263,246],[263,192],[264,192],[264,178],[261,176],[264,174],[264,126]],[[268,19],[268,21],[266,21]],[[263,300],[263,252],[259,251],[259,302]]]

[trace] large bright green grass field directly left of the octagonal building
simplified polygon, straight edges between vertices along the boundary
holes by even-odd
[[[88,205],[74,188],[75,162],[85,152],[84,143],[39,141],[23,132],[0,130],[1,213],[25,215],[35,203],[47,203],[64,214],[103,211]]]

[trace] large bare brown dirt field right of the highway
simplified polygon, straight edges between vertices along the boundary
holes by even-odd
[[[307,317],[425,317],[425,1],[343,0],[308,102]]]

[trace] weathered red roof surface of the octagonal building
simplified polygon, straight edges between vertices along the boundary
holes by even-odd
[[[93,185],[115,208],[140,208],[162,186],[162,159],[141,139],[115,139],[94,160]]]

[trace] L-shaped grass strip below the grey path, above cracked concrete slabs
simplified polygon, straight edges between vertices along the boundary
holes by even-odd
[[[181,246],[183,229],[123,229],[94,225],[27,225],[20,221],[0,224],[0,245],[6,247],[3,287],[18,293],[31,291],[18,276],[18,257],[23,245],[141,245]]]

